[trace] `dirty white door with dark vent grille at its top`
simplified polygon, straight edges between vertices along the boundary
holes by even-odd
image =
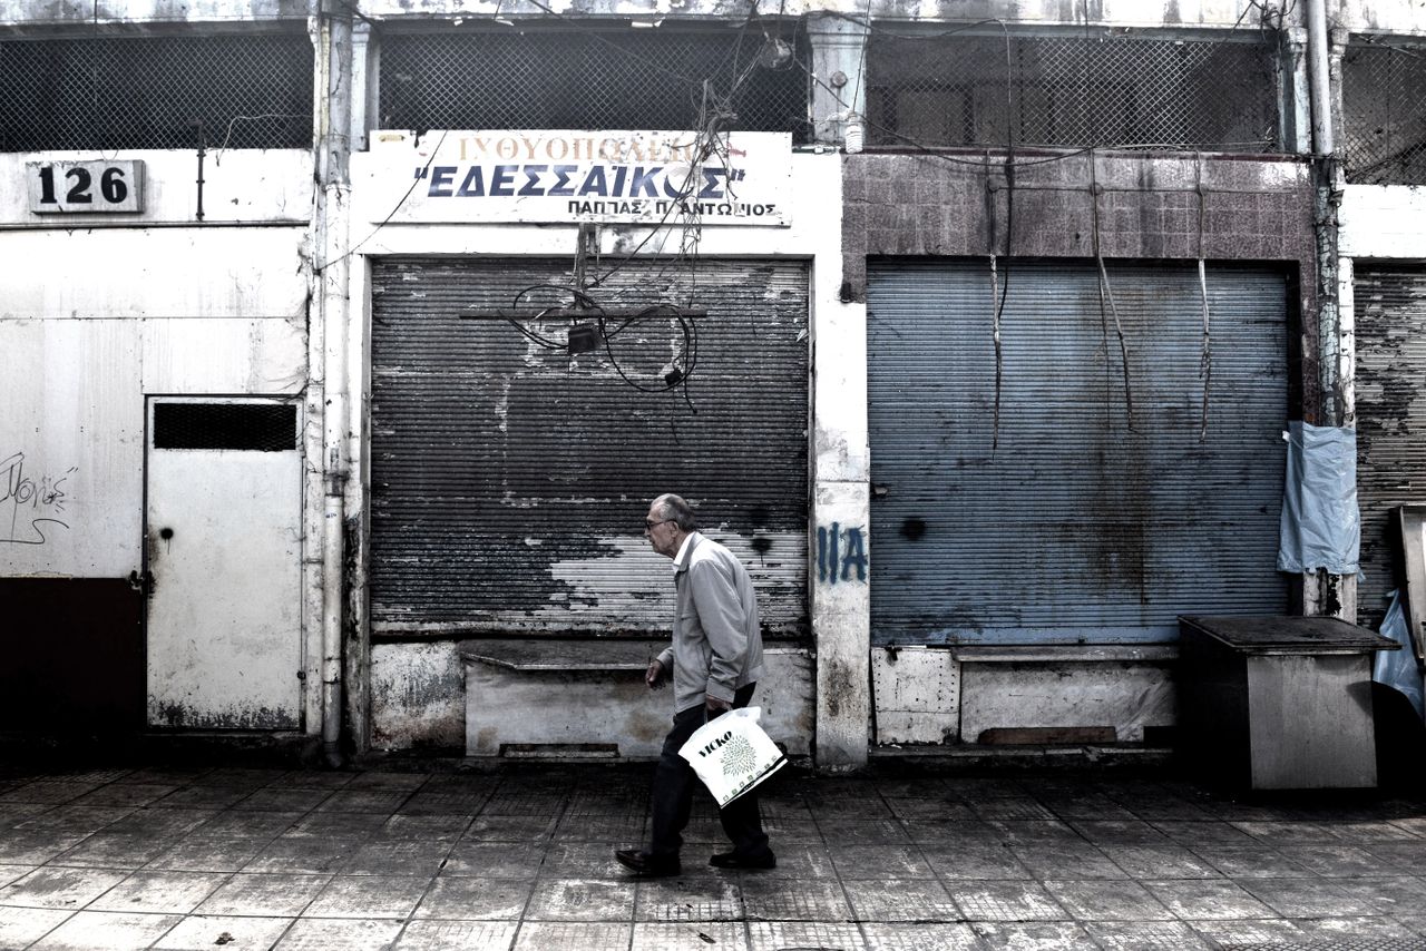
[[[148,723],[301,727],[299,408],[150,398]]]

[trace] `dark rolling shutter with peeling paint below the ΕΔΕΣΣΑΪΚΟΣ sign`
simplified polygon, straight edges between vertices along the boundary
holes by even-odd
[[[593,265],[592,265],[593,267]],[[607,267],[607,265],[606,265]],[[376,636],[666,632],[670,563],[645,540],[679,492],[749,566],[770,636],[807,629],[807,268],[697,262],[697,364],[642,394],[605,351],[570,358],[502,321],[568,261],[389,258],[372,271],[371,615]],[[606,307],[687,301],[686,267],[642,261],[593,291]],[[568,324],[533,325],[563,339]],[[615,338],[645,386],[677,325]]]

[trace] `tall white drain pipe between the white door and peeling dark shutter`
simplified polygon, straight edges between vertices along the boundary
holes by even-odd
[[[342,763],[342,617],[345,606],[347,329],[352,23],[341,0],[317,0],[321,66],[317,94],[317,311],[322,334],[322,753]]]

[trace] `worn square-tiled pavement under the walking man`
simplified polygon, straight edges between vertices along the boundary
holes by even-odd
[[[135,768],[0,778],[0,948],[1426,948],[1426,798],[829,778],[763,798],[779,867],[636,881],[643,767]],[[1339,945],[1342,947],[1342,945]]]

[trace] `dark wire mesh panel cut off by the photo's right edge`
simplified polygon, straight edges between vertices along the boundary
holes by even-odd
[[[1356,41],[1342,56],[1346,178],[1426,183],[1426,46]]]

